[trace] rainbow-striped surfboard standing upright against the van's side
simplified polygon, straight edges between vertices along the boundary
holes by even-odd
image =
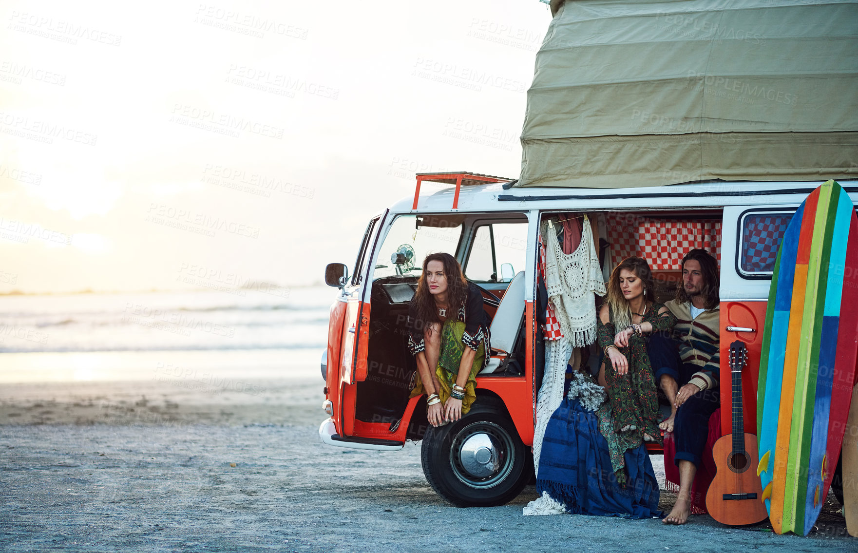
[[[834,181],[814,190],[778,250],[758,381],[758,475],[775,532],[807,534],[843,442],[855,378],[858,219]],[[833,465],[831,464],[833,462]]]

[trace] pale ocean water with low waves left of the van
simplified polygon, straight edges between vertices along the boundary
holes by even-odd
[[[336,294],[320,286],[5,296],[0,382],[318,376]]]

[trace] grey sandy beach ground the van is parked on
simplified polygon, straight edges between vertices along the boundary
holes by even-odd
[[[497,508],[454,508],[396,453],[318,440],[320,378],[19,383],[0,388],[5,551],[855,550],[829,497],[807,538],[768,525],[523,517],[528,486]],[[663,475],[661,457],[654,456]],[[662,477],[663,478],[663,477]],[[673,501],[662,490],[662,508]]]

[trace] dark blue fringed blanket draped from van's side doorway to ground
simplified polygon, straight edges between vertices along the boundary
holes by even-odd
[[[536,491],[547,491],[572,514],[626,519],[663,516],[658,481],[644,445],[625,452],[625,486],[613,474],[599,418],[576,399],[565,398],[553,412],[542,441]]]

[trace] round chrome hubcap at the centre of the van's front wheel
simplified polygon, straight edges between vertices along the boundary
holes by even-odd
[[[514,462],[511,437],[494,423],[469,424],[450,448],[450,465],[456,478],[472,488],[490,488],[511,472]]]

